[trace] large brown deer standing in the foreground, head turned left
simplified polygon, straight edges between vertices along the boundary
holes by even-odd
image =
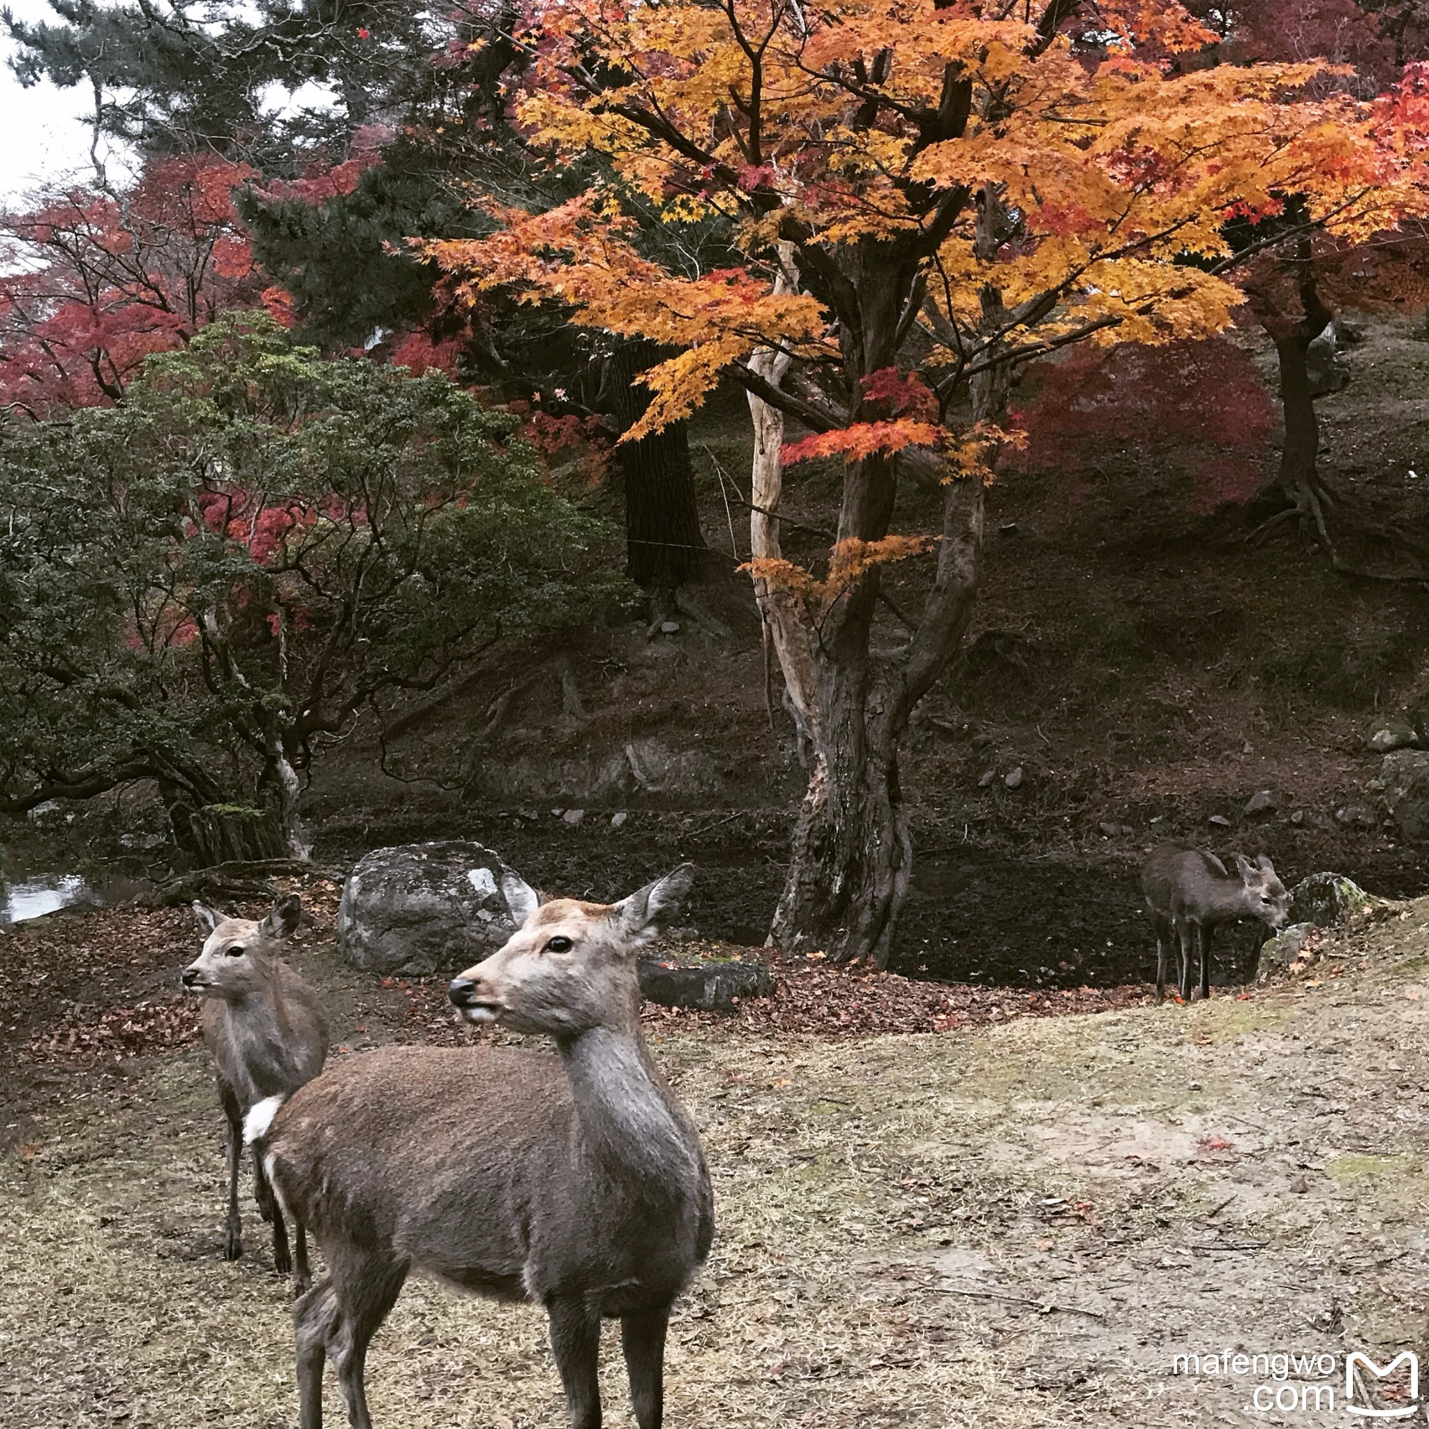
[[[699,1136],[640,1033],[636,953],[692,875],[612,905],[539,903],[503,875],[516,932],[447,996],[553,1053],[382,1047],[249,1113],[327,1265],[293,1312],[302,1429],[322,1429],[329,1359],[349,1425],[372,1429],[367,1346],[413,1270],[544,1308],[570,1429],[600,1426],[600,1328],[619,1319],[636,1422],[660,1429],[670,1306],[714,1222]]]

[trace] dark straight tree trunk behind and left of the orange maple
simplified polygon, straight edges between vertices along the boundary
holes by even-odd
[[[607,386],[612,416],[627,432],[650,406],[649,390],[636,382],[659,362],[654,343],[624,343],[610,360]],[[660,432],[617,447],[626,494],[626,569],[630,579],[672,602],[677,586],[702,579],[707,559],[694,504],[689,427],[672,422]]]

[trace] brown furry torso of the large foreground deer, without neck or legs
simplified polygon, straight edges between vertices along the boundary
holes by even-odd
[[[320,1242],[390,1248],[509,1299],[542,1299],[552,1276],[600,1290],[652,1273],[656,1298],[673,1296],[707,1248],[707,1200],[652,1210],[647,1187],[582,1159],[574,1119],[553,1055],[380,1047],[302,1087],[264,1153]]]

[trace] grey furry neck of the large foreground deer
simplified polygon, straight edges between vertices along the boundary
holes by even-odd
[[[639,1033],[592,1027],[560,1046],[583,1149],[644,1192],[699,1177],[693,1127],[673,1106]]]

